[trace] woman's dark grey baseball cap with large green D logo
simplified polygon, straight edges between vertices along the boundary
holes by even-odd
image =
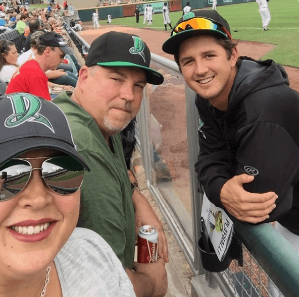
[[[89,171],[74,144],[63,111],[53,102],[27,93],[0,97],[0,164],[38,148],[52,148],[76,159]]]

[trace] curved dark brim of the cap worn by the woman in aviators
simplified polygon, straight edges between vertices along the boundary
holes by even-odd
[[[49,148],[64,152],[77,160],[86,170],[90,171],[85,161],[78,155],[75,148],[64,141],[49,137],[27,137],[14,139],[1,144],[0,164],[30,150]]]

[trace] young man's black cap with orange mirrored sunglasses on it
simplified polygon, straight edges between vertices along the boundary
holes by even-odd
[[[215,10],[203,10],[185,14],[174,26],[170,38],[162,45],[163,51],[174,54],[178,46],[187,38],[198,35],[212,35],[231,39],[227,21]]]

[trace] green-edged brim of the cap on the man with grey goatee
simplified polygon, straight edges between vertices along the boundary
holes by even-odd
[[[152,69],[145,66],[141,66],[138,64],[130,63],[130,62],[122,62],[122,61],[115,61],[115,62],[99,62],[96,63],[99,66],[109,66],[109,67],[137,67],[143,69],[146,73],[146,82],[152,85],[161,85],[164,82],[163,75]]]

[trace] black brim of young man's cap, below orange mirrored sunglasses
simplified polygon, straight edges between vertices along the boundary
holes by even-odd
[[[211,29],[188,29],[177,33],[170,38],[168,38],[162,45],[162,50],[174,54],[177,51],[179,45],[186,39],[199,36],[199,35],[210,35],[216,36],[223,39],[227,39],[227,36],[219,31],[211,30]]]

